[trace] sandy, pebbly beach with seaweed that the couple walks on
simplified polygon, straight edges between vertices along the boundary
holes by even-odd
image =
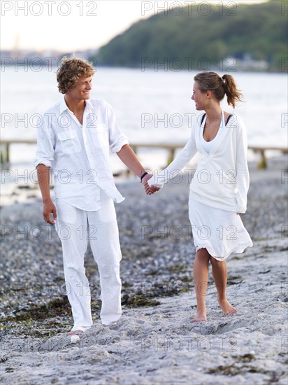
[[[223,316],[210,271],[208,322],[193,323],[194,246],[188,176],[147,197],[118,188],[123,314],[103,327],[99,275],[87,251],[93,327],[72,344],[62,248],[38,199],[1,209],[2,384],[287,384],[287,156],[250,164],[243,223],[254,246],[227,260]]]

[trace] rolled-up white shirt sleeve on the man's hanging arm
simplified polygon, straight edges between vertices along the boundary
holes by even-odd
[[[34,166],[45,165],[52,167],[54,160],[55,137],[52,129],[45,124],[45,121],[39,120],[37,125],[37,149],[34,159]]]

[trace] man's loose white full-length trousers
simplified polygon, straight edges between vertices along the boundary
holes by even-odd
[[[62,241],[66,292],[72,307],[72,330],[92,326],[91,295],[85,274],[84,255],[88,240],[100,275],[101,322],[110,325],[121,316],[119,232],[113,200],[101,192],[101,209],[83,211],[59,198],[56,230]]]

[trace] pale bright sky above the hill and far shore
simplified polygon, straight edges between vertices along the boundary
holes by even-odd
[[[265,0],[1,0],[1,50],[76,51],[100,48],[134,22],[162,10],[197,3],[201,13],[209,3],[225,13],[238,3]],[[235,8],[236,9],[236,8]]]

